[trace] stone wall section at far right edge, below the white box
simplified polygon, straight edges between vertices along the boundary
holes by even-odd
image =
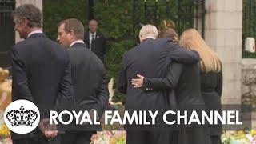
[[[256,59],[242,59],[242,103],[256,108]]]

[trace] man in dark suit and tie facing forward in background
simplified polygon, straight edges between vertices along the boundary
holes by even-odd
[[[90,20],[89,30],[85,33],[84,42],[86,46],[94,52],[98,58],[104,62],[104,55],[106,53],[106,39],[104,35],[97,31],[98,22],[96,20]]]

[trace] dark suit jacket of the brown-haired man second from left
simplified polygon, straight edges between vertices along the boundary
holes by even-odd
[[[76,102],[80,109],[95,109],[101,116],[109,102],[108,80],[102,61],[84,43],[74,43],[68,54]]]

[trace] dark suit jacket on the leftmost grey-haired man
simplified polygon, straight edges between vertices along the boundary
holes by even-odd
[[[71,66],[68,54],[45,34],[32,34],[11,50],[13,101],[34,102],[47,118],[48,110],[73,98]],[[38,129],[30,134],[12,134],[13,139],[38,137]]]

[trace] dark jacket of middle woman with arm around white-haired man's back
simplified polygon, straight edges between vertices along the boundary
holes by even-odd
[[[182,65],[173,62],[165,78],[145,78],[143,84],[150,90],[175,90],[178,105],[205,105],[201,94],[200,70],[197,64]]]

